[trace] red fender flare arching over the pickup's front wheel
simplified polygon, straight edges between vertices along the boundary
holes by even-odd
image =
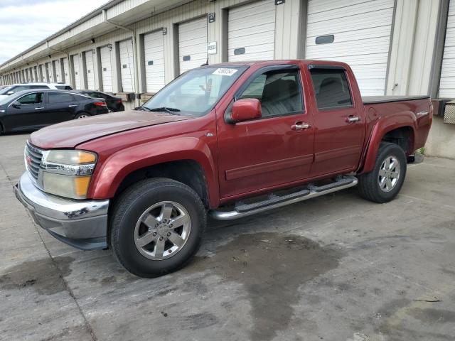
[[[114,197],[127,175],[141,168],[171,161],[196,161],[205,175],[210,206],[218,205],[218,180],[215,157],[207,144],[196,137],[171,137],[149,141],[122,149],[109,156],[95,168],[87,197],[105,199]]]

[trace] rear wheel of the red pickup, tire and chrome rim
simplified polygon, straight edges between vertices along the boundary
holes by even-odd
[[[405,177],[405,152],[397,144],[382,142],[373,171],[358,178],[360,196],[373,202],[389,202],[400,192]]]

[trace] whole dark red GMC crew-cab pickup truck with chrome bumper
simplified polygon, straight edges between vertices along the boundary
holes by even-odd
[[[392,200],[431,124],[429,97],[362,98],[345,63],[207,65],[133,111],[36,131],[15,192],[54,237],[159,276],[196,253],[207,215],[232,220],[354,185]]]

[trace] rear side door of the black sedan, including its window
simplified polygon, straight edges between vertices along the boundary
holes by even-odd
[[[47,92],[47,124],[68,121],[75,117],[77,100],[68,92]]]

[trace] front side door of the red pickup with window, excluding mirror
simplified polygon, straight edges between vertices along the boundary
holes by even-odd
[[[264,67],[253,73],[236,96],[259,99],[262,117],[230,124],[220,115],[218,169],[223,200],[308,177],[314,129],[301,85],[298,65]]]

